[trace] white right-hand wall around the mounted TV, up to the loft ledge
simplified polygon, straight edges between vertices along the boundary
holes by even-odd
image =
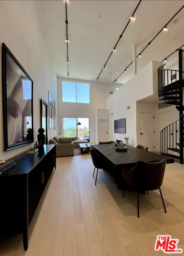
[[[157,95],[157,69],[161,62],[152,61],[121,86],[118,91],[107,98],[106,108],[109,108],[109,140],[129,137],[129,144],[137,144],[137,113],[136,101],[150,95]],[[130,110],[126,107],[130,106]],[[113,115],[111,116],[111,113]],[[114,120],[126,118],[126,134],[114,133]]]

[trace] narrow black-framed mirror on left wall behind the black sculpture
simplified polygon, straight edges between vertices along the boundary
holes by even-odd
[[[45,129],[45,144],[48,144],[48,104],[43,98],[40,99],[40,124]]]

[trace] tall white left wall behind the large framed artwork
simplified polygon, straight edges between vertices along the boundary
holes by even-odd
[[[40,127],[40,98],[43,97],[48,102],[48,91],[50,91],[57,102],[57,78],[39,26],[34,1],[0,1],[0,43],[2,42],[33,79],[33,121],[34,142],[36,142]],[[0,120],[3,120],[1,75],[0,71]],[[48,138],[52,138],[55,134],[57,134],[56,130],[48,130]],[[34,145],[28,144],[5,152],[3,141],[3,122],[0,122],[0,159],[9,159]]]

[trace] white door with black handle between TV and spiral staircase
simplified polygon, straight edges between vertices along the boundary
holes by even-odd
[[[140,113],[140,144],[155,151],[154,113]]]

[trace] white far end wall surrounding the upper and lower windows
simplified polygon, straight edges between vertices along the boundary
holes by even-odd
[[[90,84],[90,104],[62,102],[62,81]],[[91,143],[95,143],[95,110],[97,108],[105,108],[105,100],[110,95],[110,90],[115,91],[115,87],[116,85],[114,84],[58,78],[58,131],[61,123],[63,123],[63,117],[90,118]],[[63,131],[61,132],[63,133]]]

